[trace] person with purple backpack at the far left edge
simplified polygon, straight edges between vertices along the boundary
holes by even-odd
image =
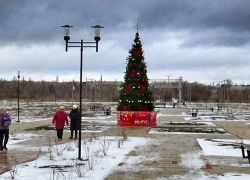
[[[3,119],[3,120],[2,120]],[[0,107],[0,151],[7,150],[9,140],[9,124],[3,123],[4,119],[10,120],[7,110],[4,106]]]

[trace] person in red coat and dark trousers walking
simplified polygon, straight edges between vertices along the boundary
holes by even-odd
[[[64,111],[64,106],[60,106],[60,110],[56,111],[52,123],[55,124],[58,139],[62,139],[65,123],[69,125],[67,113]]]

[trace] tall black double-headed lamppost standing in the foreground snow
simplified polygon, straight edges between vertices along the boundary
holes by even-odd
[[[72,28],[73,26],[70,25],[64,25],[61,26],[65,29],[64,31],[64,40],[66,42],[66,52],[68,51],[68,47],[80,47],[80,51],[81,51],[81,58],[80,58],[80,121],[79,121],[79,151],[78,151],[78,159],[82,159],[81,158],[81,127],[82,127],[82,55],[83,55],[83,48],[84,47],[95,47],[96,48],[96,52],[98,52],[98,42],[101,40],[100,38],[100,29],[104,28],[103,26],[100,25],[95,25],[95,26],[91,26],[92,28],[95,28],[95,37],[94,40],[95,42],[83,42],[83,40],[81,39],[80,42],[69,42],[70,40],[70,36],[69,36],[69,29]],[[84,44],[93,44],[95,43],[94,46],[85,46]],[[74,44],[72,46],[70,46],[69,44]]]

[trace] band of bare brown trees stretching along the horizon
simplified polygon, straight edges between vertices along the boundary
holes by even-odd
[[[120,81],[87,81],[82,84],[83,102],[117,102],[119,101]],[[172,82],[175,84],[178,82]],[[167,84],[161,82],[159,84]],[[77,102],[80,98],[80,83],[74,82],[73,100]],[[72,81],[34,81],[19,80],[19,98],[20,101],[72,101]],[[225,85],[220,88],[211,85],[205,85],[198,82],[182,82],[182,100],[185,102],[226,102],[227,95],[229,102],[248,103],[248,88],[235,89],[231,88],[232,84],[226,91]],[[191,90],[190,90],[191,87]],[[156,89],[150,86],[153,91],[155,101],[171,102],[172,98],[179,97],[178,89]],[[218,96],[219,94],[219,96]],[[17,101],[18,97],[18,80],[0,79],[0,100]]]

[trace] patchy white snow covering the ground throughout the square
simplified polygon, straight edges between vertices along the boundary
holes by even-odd
[[[26,103],[22,110],[21,121],[35,121],[35,120],[45,120],[50,119],[54,110],[57,110],[57,106],[49,108],[49,104],[52,107],[53,103]],[[66,103],[65,103],[66,104]],[[12,104],[13,105],[13,104]],[[204,104],[203,104],[204,105]],[[71,103],[68,103],[68,107],[71,107]],[[15,116],[16,108],[11,108],[8,106],[12,117]],[[246,124],[250,123],[248,120],[250,114],[250,108],[244,105],[235,105],[230,107],[229,113],[226,109],[220,112],[214,111],[200,111],[197,117],[192,117],[190,113],[183,113],[182,116],[186,122],[180,123],[190,123],[191,126],[215,126],[210,121],[245,121]],[[44,114],[43,114],[44,113]],[[52,115],[52,116],[51,116]],[[51,117],[48,117],[51,116]],[[162,114],[158,113],[160,116],[176,116],[174,114]],[[110,116],[98,116],[98,117],[84,117],[83,122],[91,124],[115,124],[116,121],[109,121]],[[205,122],[209,121],[209,122]],[[172,122],[160,122],[159,125],[175,125],[170,124]],[[175,122],[176,123],[176,122]],[[185,124],[187,126],[187,124]],[[96,126],[98,127],[98,126]],[[110,128],[110,126],[106,126]],[[216,128],[219,129],[219,128]],[[221,129],[223,130],[223,129]],[[158,131],[158,132],[157,132]],[[93,132],[93,131],[90,131]],[[97,131],[96,131],[97,132]],[[152,128],[149,133],[181,133],[181,132],[159,132],[157,128]],[[24,147],[18,144],[21,141],[36,138],[38,135],[35,134],[12,134],[10,136],[10,141],[8,147],[12,148],[30,148]],[[130,151],[134,150],[137,146],[145,146],[150,144],[152,139],[149,138],[137,138],[129,137],[128,140],[123,141],[123,137],[98,137],[98,139],[90,138],[82,140],[82,158],[83,161],[77,160],[78,155],[78,142],[73,141],[61,145],[53,145],[51,147],[41,147],[42,151],[48,151],[48,154],[40,156],[37,160],[18,164],[12,167],[12,171],[16,172],[15,179],[17,180],[76,180],[80,179],[79,176],[84,177],[84,179],[104,179],[108,174],[115,170],[119,170],[122,166],[123,171],[131,171],[131,169],[136,169],[135,162],[141,162],[148,160],[145,156],[126,156]],[[120,142],[120,148],[118,148],[118,143]],[[206,163],[211,165],[217,165],[218,163],[224,163],[229,166],[237,167],[250,167],[249,164],[239,164],[237,158],[241,157],[241,149],[239,149],[242,140],[235,139],[197,139],[200,147],[202,148],[199,152],[188,152],[181,155],[181,166],[185,166],[189,169],[189,172],[185,175],[173,175],[168,179],[170,180],[246,180],[250,179],[249,174],[239,174],[239,173],[224,173],[223,175],[216,174],[211,175],[201,170]],[[244,143],[250,144],[250,140],[244,140]],[[106,153],[106,155],[105,155]],[[221,160],[216,160],[211,158],[206,161],[201,158],[201,156],[225,156],[232,157],[230,161],[221,162]],[[123,165],[123,163],[125,163]],[[46,166],[41,168],[42,166]],[[6,172],[1,175],[0,179],[11,179],[10,172]],[[163,180],[164,178],[158,178]]]

